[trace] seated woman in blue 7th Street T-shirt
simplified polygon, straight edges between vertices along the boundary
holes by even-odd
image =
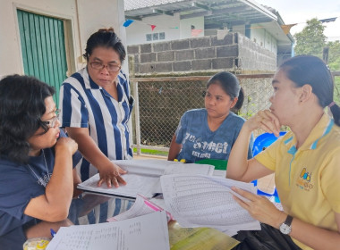
[[[244,119],[231,110],[241,109],[243,97],[234,74],[220,72],[209,79],[204,97],[205,108],[183,114],[171,141],[167,160],[228,160],[244,123]],[[248,158],[252,157],[252,142],[251,138]]]

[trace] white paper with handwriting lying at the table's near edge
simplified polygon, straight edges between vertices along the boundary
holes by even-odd
[[[61,228],[47,250],[170,249],[166,212],[152,212],[125,221]]]

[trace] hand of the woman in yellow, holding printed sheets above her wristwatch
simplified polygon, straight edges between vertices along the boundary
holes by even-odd
[[[233,196],[234,200],[247,210],[255,220],[266,223],[276,229],[285,221],[287,217],[285,212],[279,211],[265,196],[257,196],[237,187],[232,187],[232,189],[248,200],[242,201],[237,196]]]

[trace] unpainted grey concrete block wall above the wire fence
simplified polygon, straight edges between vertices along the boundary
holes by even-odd
[[[128,46],[136,76],[204,71],[276,71],[276,54],[239,33]]]

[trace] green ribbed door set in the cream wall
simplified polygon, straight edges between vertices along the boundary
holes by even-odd
[[[55,87],[54,100],[58,107],[59,89],[67,71],[64,21],[32,12],[17,12],[24,73]]]

